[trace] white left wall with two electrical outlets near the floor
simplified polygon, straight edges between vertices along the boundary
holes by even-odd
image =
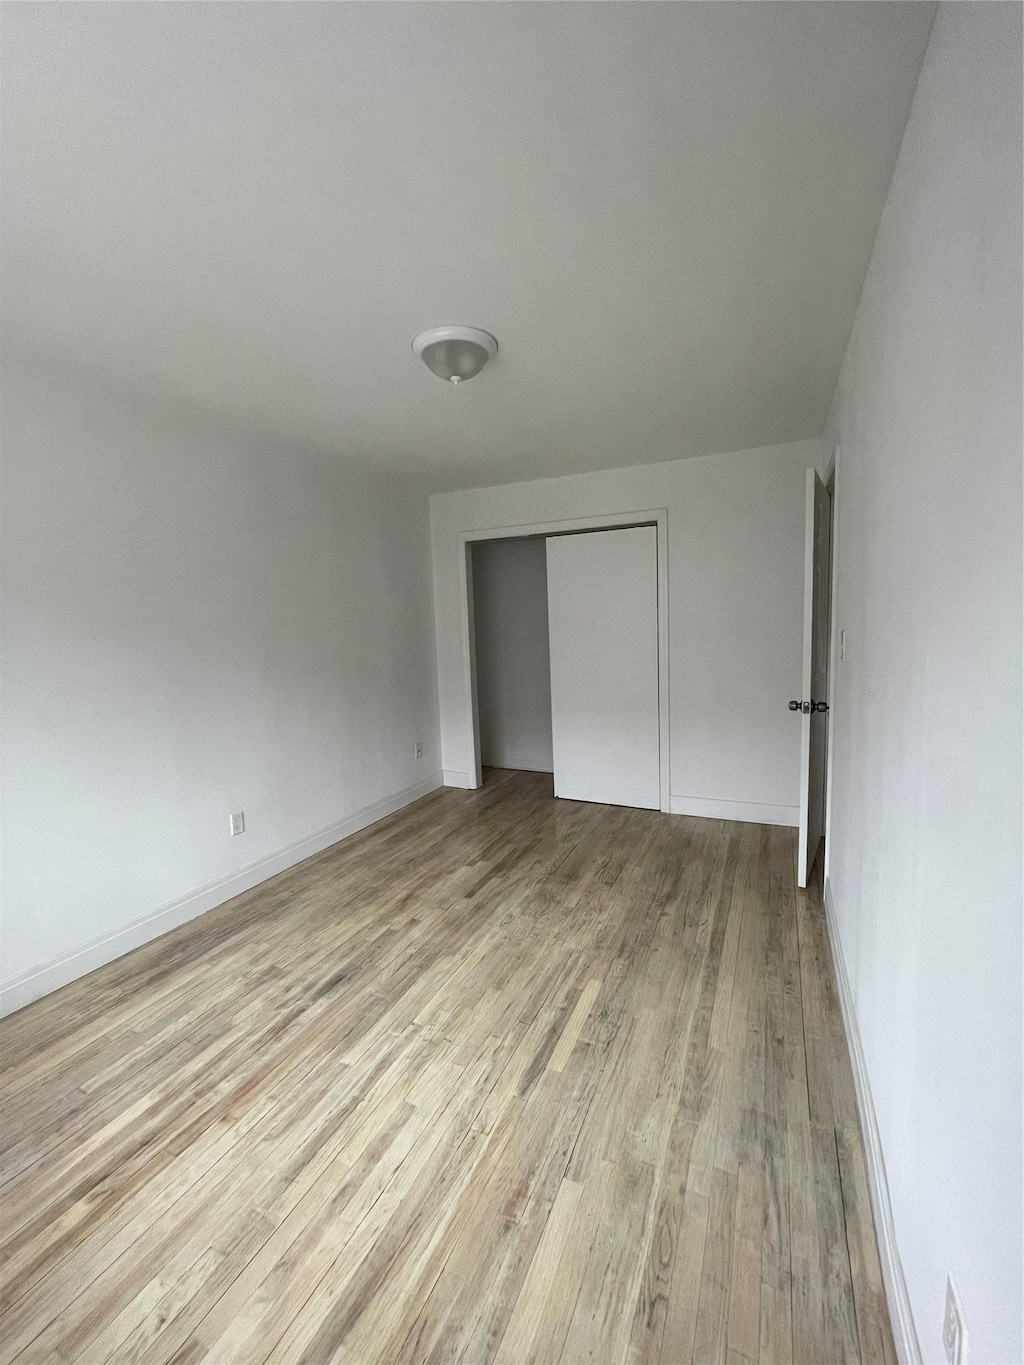
[[[14,362],[3,381],[14,1007],[436,784],[440,758],[423,494]]]

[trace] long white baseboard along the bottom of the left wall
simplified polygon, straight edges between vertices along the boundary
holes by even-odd
[[[131,924],[126,924],[112,934],[105,934],[102,938],[94,939],[86,947],[76,949],[74,953],[63,953],[42,966],[33,968],[30,972],[4,981],[3,987],[0,987],[0,1016],[12,1014],[14,1010],[22,1009],[22,1006],[31,1003],[31,1001],[38,999],[41,995],[49,995],[51,991],[57,991],[61,986],[76,981],[79,976],[86,976],[98,966],[105,966],[115,958],[123,957],[132,949],[141,947],[154,938],[160,938],[168,930],[177,928],[179,924],[184,924],[198,915],[205,915],[206,910],[223,905],[233,895],[240,895],[242,891],[251,890],[268,878],[276,876],[277,872],[284,872],[287,868],[295,867],[296,863],[302,863],[303,859],[330,848],[339,839],[348,838],[350,834],[358,834],[367,824],[374,824],[377,820],[382,820],[385,815],[393,815],[395,811],[400,811],[404,805],[410,805],[422,796],[436,792],[438,786],[441,786],[441,775],[440,773],[434,773],[422,782],[416,782],[415,786],[408,786],[403,792],[395,792],[392,796],[385,796],[371,805],[365,805],[344,820],[328,824],[304,839],[299,839],[296,844],[289,844],[276,853],[268,853],[266,857],[250,863],[248,867],[243,867],[239,872],[232,872],[231,876],[209,882],[197,891],[171,901],[169,905],[161,906],[152,915],[145,915],[142,919],[132,920]]]

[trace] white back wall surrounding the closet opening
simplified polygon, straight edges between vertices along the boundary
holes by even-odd
[[[459,534],[668,508],[673,808],[796,823],[804,471],[821,442],[430,500],[445,781],[472,771]]]

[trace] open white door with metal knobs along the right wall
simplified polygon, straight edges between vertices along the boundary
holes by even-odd
[[[804,662],[800,699],[800,841],[797,886],[807,886],[825,829],[825,738],[829,710],[829,491],[815,470],[807,471],[804,538]]]

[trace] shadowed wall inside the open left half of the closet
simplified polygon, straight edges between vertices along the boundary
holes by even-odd
[[[481,759],[550,773],[552,673],[543,541],[483,541],[472,550]]]

